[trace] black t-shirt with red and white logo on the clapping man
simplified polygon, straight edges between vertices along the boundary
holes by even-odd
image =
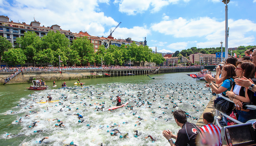
[[[198,136],[197,129],[189,122],[183,124],[177,134],[177,140],[174,143],[176,146],[196,146],[196,138]]]

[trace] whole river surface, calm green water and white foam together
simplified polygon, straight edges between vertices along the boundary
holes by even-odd
[[[188,122],[196,123],[212,96],[204,81],[186,74],[150,75],[155,79],[147,75],[82,79],[88,87],[84,89],[58,89],[63,81],[56,81],[57,87],[47,82],[50,87],[43,91],[26,89],[30,84],[0,86],[0,146],[63,146],[72,141],[78,146],[169,145],[162,131],[170,129],[177,134],[180,129],[172,110],[186,111],[191,116]],[[74,82],[68,80],[66,84],[71,87]],[[45,102],[49,94],[57,102],[37,103]],[[108,109],[116,105],[112,102],[117,95],[122,95],[122,103],[126,100],[129,103],[111,112]],[[102,111],[97,111],[98,108]],[[84,116],[83,123],[74,115],[77,113]],[[60,124],[53,121],[56,118],[65,126],[55,127]],[[38,122],[37,126],[31,127],[34,122]],[[116,136],[110,134],[117,131],[113,129],[119,130]],[[37,130],[43,131],[34,132]],[[129,138],[119,138],[126,133]],[[146,138],[148,135],[156,141]],[[38,144],[46,136],[49,139]]]

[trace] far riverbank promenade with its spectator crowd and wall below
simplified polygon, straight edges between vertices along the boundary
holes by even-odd
[[[8,77],[8,84],[31,83],[33,79],[43,81],[73,80],[84,78],[113,77],[126,75],[144,75],[179,72],[198,72],[202,66],[193,67],[98,67],[98,68],[16,68],[0,70],[0,84]]]

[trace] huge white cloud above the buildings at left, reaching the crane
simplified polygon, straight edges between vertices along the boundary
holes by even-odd
[[[1,3],[1,2],[0,2]],[[113,18],[107,17],[99,11],[98,3],[109,3],[109,0],[14,0],[12,4],[3,1],[0,13],[8,16],[14,22],[39,21],[41,26],[57,24],[62,30],[79,33],[87,31],[90,35],[101,36],[105,26],[116,26]]]

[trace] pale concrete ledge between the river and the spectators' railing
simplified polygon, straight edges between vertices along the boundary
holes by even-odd
[[[213,113],[214,115],[216,115],[216,113],[215,113],[216,110],[215,110],[214,105],[213,105],[215,98],[216,98],[216,96],[212,96],[210,102],[208,103],[208,105],[207,105],[206,108],[204,109],[203,113],[211,112],[211,113]],[[196,126],[199,127],[199,128],[205,125],[205,124],[203,123],[203,113],[202,113],[202,115],[200,116],[199,120],[198,120],[197,123],[196,123]]]

